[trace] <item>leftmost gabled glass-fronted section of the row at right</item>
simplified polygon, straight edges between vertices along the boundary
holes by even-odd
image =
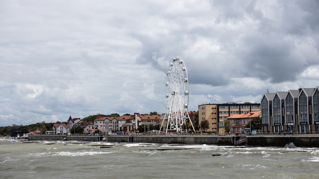
[[[261,98],[261,126],[263,131],[270,132],[273,126],[272,105],[276,93],[264,93]]]

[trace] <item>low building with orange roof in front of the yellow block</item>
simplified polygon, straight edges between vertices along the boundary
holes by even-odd
[[[234,114],[227,117],[229,120],[231,128],[230,132],[244,132],[245,126],[254,117],[260,117],[260,111],[251,111],[243,114]]]

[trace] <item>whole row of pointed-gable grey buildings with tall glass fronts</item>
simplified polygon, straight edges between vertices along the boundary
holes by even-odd
[[[264,93],[261,98],[263,131],[319,131],[318,89],[319,87]]]

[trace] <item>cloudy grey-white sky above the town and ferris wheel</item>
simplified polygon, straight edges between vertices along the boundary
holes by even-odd
[[[184,60],[188,110],[319,86],[318,0],[1,0],[0,126],[165,112]]]

